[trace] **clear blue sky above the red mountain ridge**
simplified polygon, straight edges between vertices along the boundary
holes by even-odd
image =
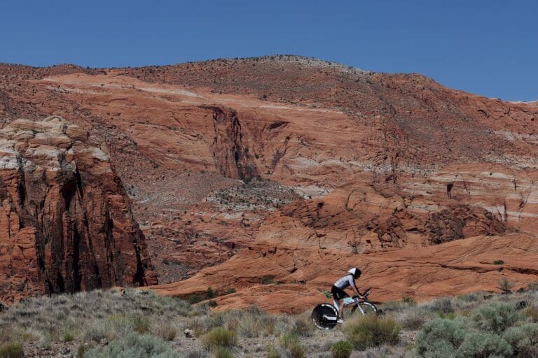
[[[144,66],[276,53],[538,99],[538,1],[0,1],[0,62]]]

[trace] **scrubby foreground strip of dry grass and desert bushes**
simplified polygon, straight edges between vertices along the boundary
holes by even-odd
[[[533,285],[381,308],[382,317],[355,315],[319,331],[308,313],[212,312],[207,304],[133,289],[38,297],[0,312],[0,358],[538,356]]]

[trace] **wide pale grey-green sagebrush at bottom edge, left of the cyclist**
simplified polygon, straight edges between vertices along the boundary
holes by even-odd
[[[177,357],[162,339],[147,334],[130,333],[111,341],[108,345],[97,346],[84,352],[84,358],[172,358]]]

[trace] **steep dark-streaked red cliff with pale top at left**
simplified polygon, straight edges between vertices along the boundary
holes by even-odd
[[[156,283],[109,157],[61,117],[0,129],[0,300]]]

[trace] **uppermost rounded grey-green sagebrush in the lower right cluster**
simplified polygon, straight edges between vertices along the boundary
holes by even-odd
[[[520,318],[513,304],[504,302],[488,303],[471,313],[474,327],[497,334],[516,324]]]

